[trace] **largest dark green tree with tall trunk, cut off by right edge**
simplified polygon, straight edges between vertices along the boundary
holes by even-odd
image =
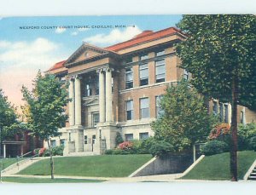
[[[181,67],[203,95],[232,106],[230,173],[237,181],[237,105],[256,111],[254,15],[183,15],[177,26],[187,39],[177,45]]]

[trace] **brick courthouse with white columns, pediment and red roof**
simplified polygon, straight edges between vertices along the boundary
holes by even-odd
[[[160,97],[166,86],[189,78],[179,68],[174,44],[185,39],[174,27],[144,31],[123,43],[99,48],[83,43],[67,60],[49,69],[69,81],[68,122],[52,146],[64,145],[65,155],[99,154],[115,147],[119,132],[125,141],[154,135],[150,123],[160,114]],[[212,101],[210,110],[230,123],[230,106]],[[250,123],[255,113],[241,107]]]

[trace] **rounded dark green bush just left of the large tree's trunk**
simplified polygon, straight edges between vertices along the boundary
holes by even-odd
[[[228,151],[229,146],[224,141],[208,141],[204,146],[201,146],[201,153],[206,156]]]

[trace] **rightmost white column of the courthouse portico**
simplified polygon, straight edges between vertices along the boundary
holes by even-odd
[[[112,111],[112,72],[108,67],[106,71],[106,121],[113,122]]]

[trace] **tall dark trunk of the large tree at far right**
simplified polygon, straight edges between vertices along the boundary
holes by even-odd
[[[230,141],[230,174],[231,181],[237,181],[237,102],[238,87],[237,76],[232,79],[232,118],[231,118],[231,141]]]

